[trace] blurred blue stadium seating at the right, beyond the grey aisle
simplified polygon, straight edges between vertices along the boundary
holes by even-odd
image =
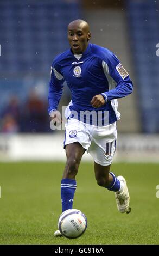
[[[133,63],[144,132],[159,132],[159,3],[126,1]]]

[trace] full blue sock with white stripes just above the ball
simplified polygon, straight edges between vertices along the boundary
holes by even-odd
[[[62,212],[68,209],[72,209],[73,198],[76,189],[76,181],[72,179],[61,180],[61,202]]]

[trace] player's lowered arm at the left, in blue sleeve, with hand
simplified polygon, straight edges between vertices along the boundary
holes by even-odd
[[[57,108],[62,96],[62,88],[64,82],[63,76],[60,74],[58,64],[53,62],[51,67],[51,78],[49,83],[49,95],[48,95],[48,112],[52,119],[54,119],[58,113]]]

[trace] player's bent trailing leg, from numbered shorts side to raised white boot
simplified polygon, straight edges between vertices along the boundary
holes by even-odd
[[[99,186],[115,192],[117,208],[120,212],[129,212],[129,192],[124,177],[110,172],[116,151],[116,123],[93,130],[92,142],[88,152],[94,159],[94,171]]]

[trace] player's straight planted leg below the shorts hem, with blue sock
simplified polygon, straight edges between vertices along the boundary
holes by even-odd
[[[77,187],[75,176],[85,149],[78,142],[66,145],[66,166],[61,180],[62,212],[72,209],[75,189]]]

